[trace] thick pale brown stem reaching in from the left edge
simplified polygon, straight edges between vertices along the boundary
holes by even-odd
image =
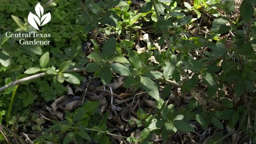
[[[67,69],[64,72],[75,72],[75,71],[77,72],[77,71],[84,71],[84,70],[85,70],[85,68],[72,68],[72,69]],[[58,69],[56,70],[56,72],[58,72]],[[18,79],[16,81],[12,81],[9,84],[0,87],[0,92],[3,91],[6,88],[9,88],[10,86],[13,86],[13,85],[16,85],[16,84],[19,84],[19,83],[22,83],[22,82],[26,82],[26,81],[29,81],[29,80],[32,80],[32,79],[35,79],[35,78],[39,78],[39,77],[42,77],[42,76],[46,76],[46,75],[49,75],[49,74],[47,74],[45,72],[42,72],[42,73],[38,73],[38,74],[34,74],[34,75],[31,75],[31,76],[27,76],[27,77]]]

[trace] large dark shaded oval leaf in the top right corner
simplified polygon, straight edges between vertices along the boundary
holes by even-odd
[[[250,0],[242,0],[240,6],[240,16],[246,22],[249,22],[254,13],[254,8]]]

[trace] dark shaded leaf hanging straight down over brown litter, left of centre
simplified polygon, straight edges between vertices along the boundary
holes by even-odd
[[[103,66],[99,70],[99,78],[103,84],[109,84],[112,79],[112,71],[109,67]]]

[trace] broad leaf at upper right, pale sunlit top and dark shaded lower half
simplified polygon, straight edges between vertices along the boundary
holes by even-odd
[[[230,29],[230,26],[225,25],[228,21],[223,18],[215,18],[212,21],[210,30],[214,33],[225,33]]]

